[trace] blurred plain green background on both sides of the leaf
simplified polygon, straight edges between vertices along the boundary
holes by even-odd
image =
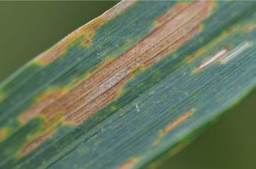
[[[118,1],[1,1],[0,82]],[[256,168],[256,92],[161,168]]]

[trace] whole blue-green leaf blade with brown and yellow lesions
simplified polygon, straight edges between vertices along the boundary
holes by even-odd
[[[140,168],[173,154],[255,87],[255,8],[118,3],[1,83],[0,168]]]

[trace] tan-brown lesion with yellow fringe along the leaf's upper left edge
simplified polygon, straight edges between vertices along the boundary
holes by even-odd
[[[67,35],[67,37],[62,39],[60,42],[49,48],[44,53],[38,55],[38,57],[35,57],[35,64],[45,66],[51,62],[54,62],[58,57],[65,54],[67,52],[67,46],[72,44],[79,37],[83,36],[83,46],[90,45],[97,28],[105,24],[107,21],[110,21],[114,17],[120,15],[120,12],[127,10],[127,8],[132,6],[134,2],[135,1],[122,1],[121,3],[118,3],[118,5],[106,11],[103,15],[93,19],[92,21],[88,22],[88,24],[81,26],[77,30],[74,30],[73,33]]]

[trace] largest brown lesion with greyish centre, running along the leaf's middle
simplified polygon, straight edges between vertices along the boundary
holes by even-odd
[[[34,116],[42,116],[50,123],[76,125],[85,121],[115,100],[122,86],[138,69],[147,69],[194,37],[210,9],[210,1],[196,1],[189,5],[177,3],[159,19],[154,30],[129,51],[103,62],[72,89],[48,95],[42,103],[36,103],[25,112],[22,119],[29,121]],[[54,128],[49,123],[46,126]],[[47,136],[36,143],[43,142]]]

